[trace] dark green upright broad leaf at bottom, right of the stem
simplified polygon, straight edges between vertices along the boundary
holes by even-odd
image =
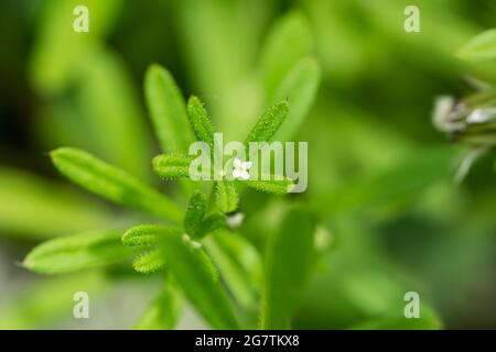
[[[290,210],[267,249],[261,299],[262,329],[288,329],[310,278],[314,223],[309,212]]]

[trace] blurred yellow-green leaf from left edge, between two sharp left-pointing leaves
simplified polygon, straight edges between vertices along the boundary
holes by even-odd
[[[96,230],[109,211],[67,187],[13,168],[0,168],[0,228],[33,239]],[[29,220],[26,220],[29,219]]]

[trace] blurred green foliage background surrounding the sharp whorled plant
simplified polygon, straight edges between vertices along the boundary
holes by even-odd
[[[77,4],[89,8],[87,34],[72,30]],[[403,31],[407,4],[420,33]],[[433,317],[424,328],[496,328],[495,155],[455,184],[467,150],[431,123],[436,96],[471,94],[466,77],[496,81],[495,62],[454,56],[495,24],[493,0],[1,0],[0,328],[127,329],[158,289],[153,275],[19,265],[43,240],[140,220],[58,176],[48,151],[83,147],[174,194],[151,173],[147,67],[170,69],[237,139],[263,107],[265,72],[305,56],[322,68],[294,136],[309,142],[309,189],[241,202],[258,249],[279,202],[319,218],[322,253],[294,327],[395,327],[414,290]],[[278,35],[280,59],[268,62]],[[89,320],[72,319],[76,290],[90,294]],[[179,328],[202,327],[186,309]]]

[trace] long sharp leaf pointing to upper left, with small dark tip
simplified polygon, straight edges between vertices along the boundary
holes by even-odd
[[[62,147],[51,156],[63,175],[94,194],[168,220],[182,219],[181,209],[165,196],[84,151]]]

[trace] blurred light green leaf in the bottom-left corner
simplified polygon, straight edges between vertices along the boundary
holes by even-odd
[[[2,304],[0,329],[39,329],[55,323],[71,314],[75,293],[85,292],[90,297],[98,297],[109,284],[105,275],[95,272],[51,277],[32,284],[15,299]]]

